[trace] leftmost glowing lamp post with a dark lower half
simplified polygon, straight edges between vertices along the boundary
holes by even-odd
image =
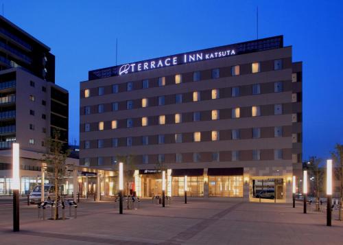
[[[19,143],[12,144],[13,161],[13,231],[19,231]]]

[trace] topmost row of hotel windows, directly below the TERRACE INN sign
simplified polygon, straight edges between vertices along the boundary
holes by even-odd
[[[283,61],[281,59],[274,60],[274,70],[279,70],[283,68]],[[251,72],[252,73],[259,73],[261,71],[261,62],[253,62],[251,64]],[[235,65],[231,67],[231,75],[240,75],[240,66]],[[211,78],[220,78],[220,69],[212,69],[211,71]],[[193,82],[198,82],[201,80],[201,73],[200,71],[194,71],[193,72]],[[149,80],[145,79],[141,81],[141,87],[142,89],[148,89],[149,88]],[[174,82],[175,84],[182,83],[182,74],[176,74],[174,76]],[[165,86],[165,77],[158,78],[158,86]],[[126,91],[132,91],[134,89],[133,82],[127,82],[126,83]],[[104,86],[100,86],[97,89],[97,95],[104,95]],[[119,93],[119,85],[113,84],[112,86],[112,93]],[[90,97],[91,91],[89,89],[84,90],[84,97]]]

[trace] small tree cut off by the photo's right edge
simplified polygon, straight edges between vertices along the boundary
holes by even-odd
[[[338,211],[338,219],[342,218],[342,198],[343,198],[343,145],[337,143],[335,150],[331,152],[333,166],[335,170],[335,178],[340,180],[340,210]]]

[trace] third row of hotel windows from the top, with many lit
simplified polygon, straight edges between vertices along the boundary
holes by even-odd
[[[275,104],[274,105],[274,115],[282,115],[283,113],[283,105],[282,104]],[[261,116],[261,106],[251,106],[251,116],[252,117],[259,117]],[[241,117],[241,108],[236,107],[231,110],[231,118],[237,119]],[[211,120],[218,120],[220,119],[220,110],[211,110]],[[193,112],[193,121],[200,121],[201,120],[201,112],[196,111]],[[180,124],[182,123],[182,113],[176,113],[174,115],[174,123]],[[159,115],[158,116],[158,125],[165,125],[166,124],[166,116]],[[134,119],[128,118],[126,119],[126,128],[132,128],[134,126]],[[141,126],[149,126],[149,119],[148,117],[141,117]],[[111,129],[118,128],[118,120],[111,121]],[[98,122],[98,130],[104,130],[104,121]],[[91,124],[84,124],[84,131],[89,132],[91,131]]]

